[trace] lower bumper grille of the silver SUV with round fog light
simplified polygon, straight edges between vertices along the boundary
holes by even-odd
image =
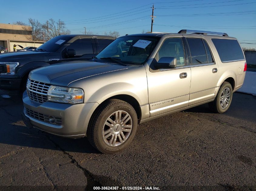
[[[25,108],[25,113],[34,118],[38,119],[40,121],[44,121],[46,123],[54,124],[54,125],[62,125],[62,118],[56,117],[56,116],[49,116],[43,113],[38,113],[36,111],[30,110],[28,108]]]

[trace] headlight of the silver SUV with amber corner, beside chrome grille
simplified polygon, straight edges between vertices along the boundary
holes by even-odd
[[[83,103],[84,91],[80,88],[50,86],[47,93],[48,101],[62,103]]]

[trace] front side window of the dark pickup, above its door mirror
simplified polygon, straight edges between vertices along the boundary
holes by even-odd
[[[92,43],[90,38],[77,39],[71,43],[67,49],[74,49],[75,56],[82,56],[84,54],[93,54]]]

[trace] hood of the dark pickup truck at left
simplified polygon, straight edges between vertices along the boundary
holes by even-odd
[[[22,62],[22,59],[35,59],[35,57],[47,56],[49,52],[18,51],[0,54],[0,62]]]

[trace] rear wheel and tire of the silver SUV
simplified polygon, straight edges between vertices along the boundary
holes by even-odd
[[[233,97],[233,88],[229,82],[224,81],[214,101],[208,103],[210,110],[212,110],[214,113],[226,112],[230,107],[232,97]],[[224,100],[222,98],[224,98]]]

